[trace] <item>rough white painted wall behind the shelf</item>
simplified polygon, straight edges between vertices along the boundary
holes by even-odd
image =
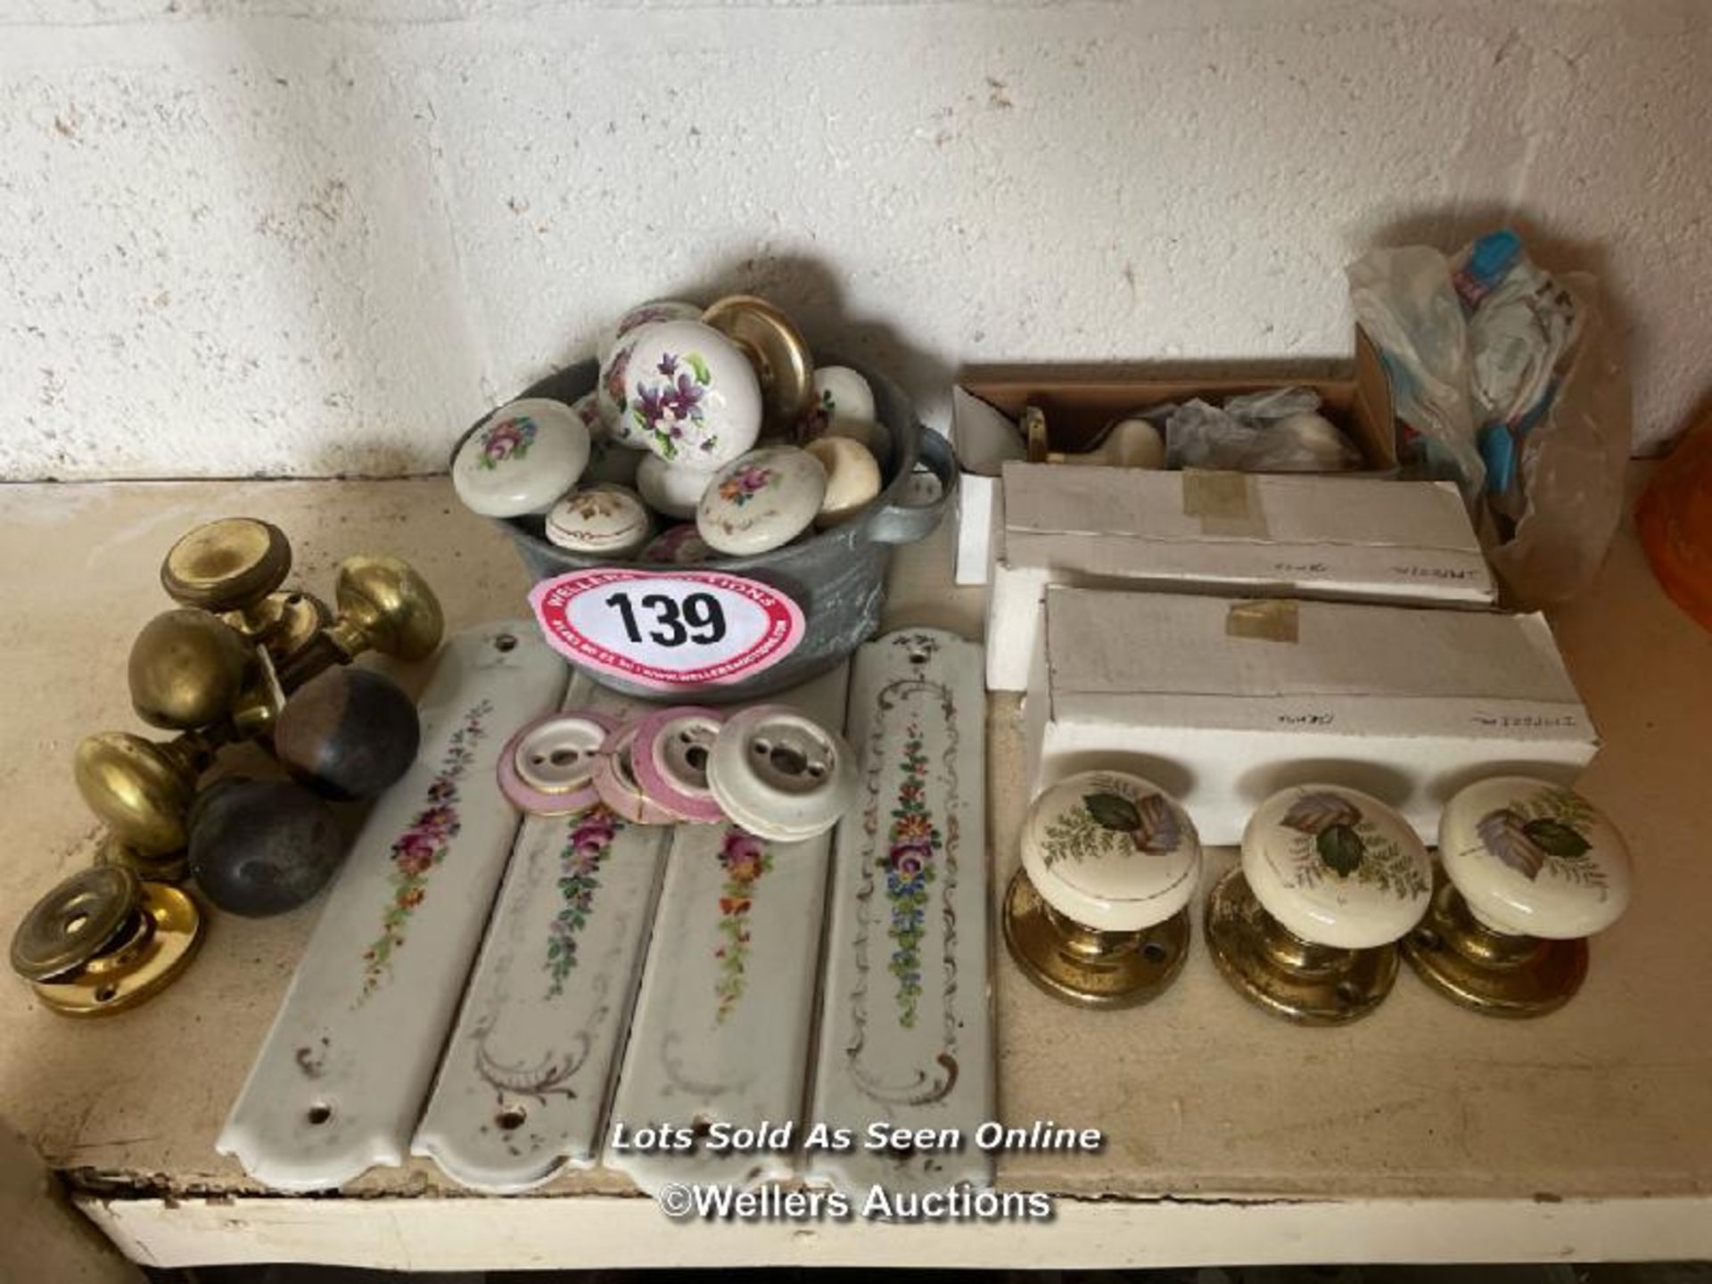
[[[404,473],[657,294],[966,361],[1349,351],[1519,217],[1705,390],[1712,3],[0,0],[0,476]]]

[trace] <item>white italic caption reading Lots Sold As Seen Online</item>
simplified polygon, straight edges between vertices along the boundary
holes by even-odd
[[[1067,1128],[1051,1120],[1031,1125],[1002,1125],[988,1120],[972,1130],[964,1128],[899,1128],[890,1123],[870,1123],[866,1128],[844,1128],[827,1123],[798,1125],[796,1121],[755,1125],[707,1123],[702,1126],[678,1123],[651,1123],[630,1126],[613,1125],[611,1149],[628,1154],[762,1154],[789,1152],[798,1145],[805,1152],[877,1150],[890,1154],[918,1154],[923,1150],[957,1152],[966,1149],[988,1152],[1079,1150],[1092,1154],[1106,1144],[1099,1128]]]

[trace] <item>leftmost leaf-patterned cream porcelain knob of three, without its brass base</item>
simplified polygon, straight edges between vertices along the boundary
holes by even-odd
[[[1188,813],[1140,776],[1082,772],[1029,806],[1022,868],[1053,909],[1096,931],[1140,931],[1181,911],[1200,878]]]

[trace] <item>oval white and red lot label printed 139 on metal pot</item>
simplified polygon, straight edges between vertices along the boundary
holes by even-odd
[[[663,692],[741,681],[803,640],[803,611],[716,570],[577,570],[529,594],[548,642],[584,668]]]

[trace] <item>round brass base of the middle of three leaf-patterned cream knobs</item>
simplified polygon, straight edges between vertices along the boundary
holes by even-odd
[[[1241,868],[1207,895],[1207,948],[1239,995],[1298,1025],[1368,1015],[1397,979],[1397,947],[1342,950],[1291,936],[1260,907]]]

